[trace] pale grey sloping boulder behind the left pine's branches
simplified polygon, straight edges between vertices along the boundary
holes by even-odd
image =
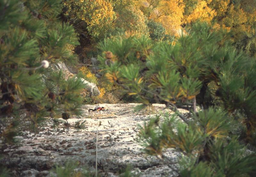
[[[68,79],[69,77],[75,76],[75,74],[72,74],[68,68],[66,67],[65,63],[59,62],[57,64],[53,64],[51,66],[53,70],[61,70],[63,74],[65,75],[65,78]],[[76,77],[76,76],[75,76]],[[81,80],[85,84],[85,88],[90,92],[90,95],[97,96],[100,94],[100,90],[98,89],[97,85],[88,81],[85,81],[83,78]]]

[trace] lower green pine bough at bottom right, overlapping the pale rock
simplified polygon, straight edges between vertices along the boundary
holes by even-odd
[[[181,176],[241,176],[255,172],[255,153],[247,154],[236,138],[228,139],[231,130],[227,114],[210,108],[200,111],[190,124],[179,123],[175,117],[156,117],[140,131],[146,152],[161,155],[163,148],[175,148],[185,155]],[[200,120],[200,121],[199,121]],[[219,122],[221,120],[222,122]],[[226,135],[226,136],[224,136]],[[199,173],[200,172],[200,173]]]

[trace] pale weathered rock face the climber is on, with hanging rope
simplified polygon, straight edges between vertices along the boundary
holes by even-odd
[[[84,105],[83,117],[68,119],[68,126],[62,122],[54,127],[49,118],[39,134],[23,132],[17,137],[20,144],[4,148],[0,163],[11,168],[12,176],[51,176],[49,170],[53,165],[64,165],[69,160],[79,161],[80,166],[94,172],[98,129],[98,176],[118,176],[120,169],[128,164],[141,177],[177,176],[178,152],[173,149],[164,152],[172,163],[168,166],[155,156],[146,156],[135,140],[138,124],[143,125],[160,111],[173,114],[172,111],[163,104],[148,105],[136,113],[138,104],[135,103],[100,106],[106,110],[88,112],[94,105]]]

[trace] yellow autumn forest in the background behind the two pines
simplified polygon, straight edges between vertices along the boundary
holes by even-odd
[[[87,66],[92,64],[91,57],[97,58],[101,53],[98,42],[108,37],[132,33],[148,36],[156,42],[175,44],[180,34],[189,33],[191,25],[198,21],[212,23],[214,29],[226,30],[233,46],[255,56],[254,0],[96,0],[63,1],[63,5],[61,18],[74,26],[80,42],[74,51],[80,63]],[[117,89],[116,85],[106,83],[104,77],[95,77],[95,70],[94,74],[88,67],[80,67],[78,71],[100,87],[100,96],[87,97],[87,102],[129,102],[130,98],[118,92],[120,88]]]

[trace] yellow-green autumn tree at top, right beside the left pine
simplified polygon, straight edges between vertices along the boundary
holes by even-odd
[[[139,9],[139,1],[64,0],[63,4],[63,16],[82,34],[80,39],[86,38],[86,43],[92,42],[93,47],[93,41],[125,32],[148,34],[147,18]]]

